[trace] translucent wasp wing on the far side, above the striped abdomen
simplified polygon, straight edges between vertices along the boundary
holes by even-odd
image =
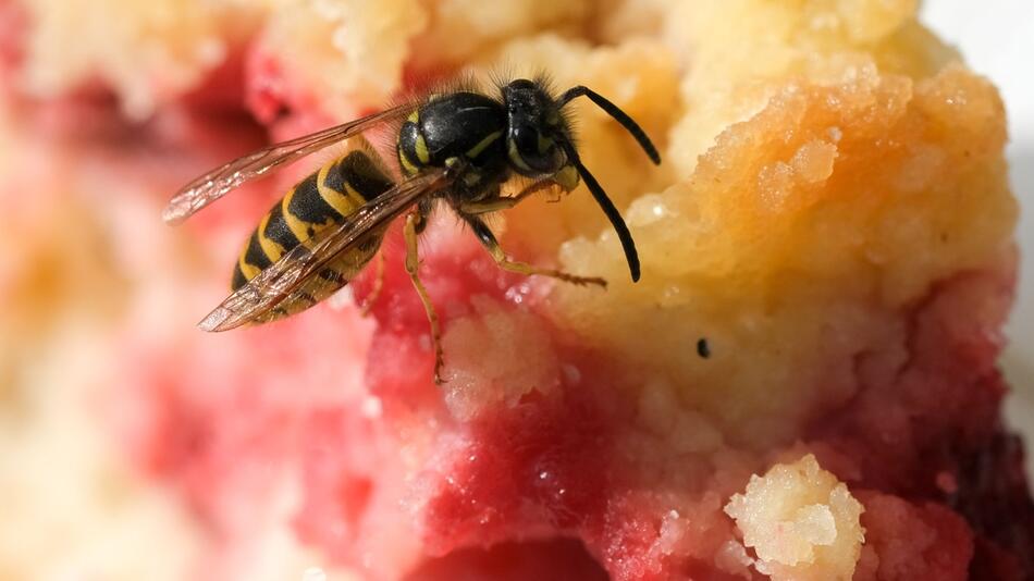
[[[162,220],[169,224],[180,224],[201,208],[225,196],[230,190],[245,182],[266,175],[273,168],[319,151],[381,123],[402,119],[413,109],[413,104],[393,107],[343,125],[274,144],[235,159],[183,186],[162,211]]]

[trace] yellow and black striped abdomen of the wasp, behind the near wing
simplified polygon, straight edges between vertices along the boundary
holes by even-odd
[[[323,228],[348,220],[362,205],[392,187],[392,181],[369,153],[352,151],[298,182],[262,218],[237,259],[234,290],[244,286],[284,252],[308,242]],[[373,257],[382,232],[370,233],[307,282],[298,300],[281,304],[269,320],[293,314],[344,286]]]

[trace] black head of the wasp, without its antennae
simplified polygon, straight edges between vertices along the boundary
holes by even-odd
[[[552,175],[566,157],[554,136],[562,135],[559,107],[539,85],[526,78],[503,87],[506,104],[506,149],[514,168],[525,175]]]

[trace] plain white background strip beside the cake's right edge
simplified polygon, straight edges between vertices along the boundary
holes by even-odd
[[[1007,156],[1023,208],[1017,231],[1023,259],[1002,364],[1013,388],[1006,411],[1026,434],[1027,472],[1034,477],[1034,1],[927,0],[922,18],[998,86],[1009,114]]]

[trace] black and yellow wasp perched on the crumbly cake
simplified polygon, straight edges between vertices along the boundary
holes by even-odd
[[[308,175],[262,218],[234,268],[232,294],[200,323],[225,331],[263,323],[331,296],[374,257],[389,225],[405,215],[405,268],[427,311],[434,349],[434,381],[441,383],[443,355],[439,320],[418,273],[418,236],[435,206],[465,222],[496,263],[525,275],[545,275],[579,285],[599,277],[576,276],[510,259],[484,215],[515,207],[546,187],[574,190],[584,182],[617,232],[632,281],[639,256],[628,226],[603,187],[582,164],[565,107],[586,97],[619,123],[655,164],[656,147],[642,128],[603,96],[584,86],[558,96],[542,79],[497,84],[497,94],[446,90],[411,99],[343,125],[275,144],[218,168],[184,186],[162,218],[179,224],[245,182],[304,156],[361,136],[376,127],[395,132],[395,175],[372,148],[358,148]],[[502,186],[515,176],[530,185],[516,195]]]

